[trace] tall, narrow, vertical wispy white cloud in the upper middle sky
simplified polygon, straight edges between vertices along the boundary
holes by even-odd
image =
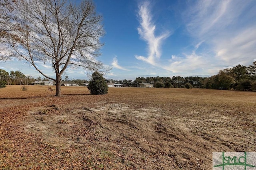
[[[162,41],[170,36],[170,32],[167,31],[158,36],[155,35],[156,25],[152,21],[150,2],[145,1],[139,5],[138,15],[140,20],[138,33],[141,39],[148,44],[148,57],[135,55],[135,58],[156,65],[156,59],[159,59],[161,56],[160,47]]]

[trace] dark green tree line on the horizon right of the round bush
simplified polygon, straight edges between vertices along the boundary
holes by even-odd
[[[189,88],[256,90],[256,61],[249,66],[238,64],[235,67],[220,70],[218,74],[210,77],[136,77],[134,81],[124,79],[112,80],[112,82],[122,84],[123,87],[137,87],[139,83],[150,83],[156,88],[185,88],[190,84]]]

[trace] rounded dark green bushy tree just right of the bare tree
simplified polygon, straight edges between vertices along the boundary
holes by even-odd
[[[92,78],[87,86],[91,94],[107,94],[108,84],[99,72],[92,73]]]

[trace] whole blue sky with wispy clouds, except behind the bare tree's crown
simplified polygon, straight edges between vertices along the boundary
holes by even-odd
[[[212,76],[224,68],[248,66],[256,60],[255,0],[94,2],[106,31],[98,59],[112,66],[105,78]],[[50,66],[40,64],[54,77]],[[0,63],[0,68],[41,76],[22,61]],[[66,75],[89,79],[82,68],[68,68]]]

